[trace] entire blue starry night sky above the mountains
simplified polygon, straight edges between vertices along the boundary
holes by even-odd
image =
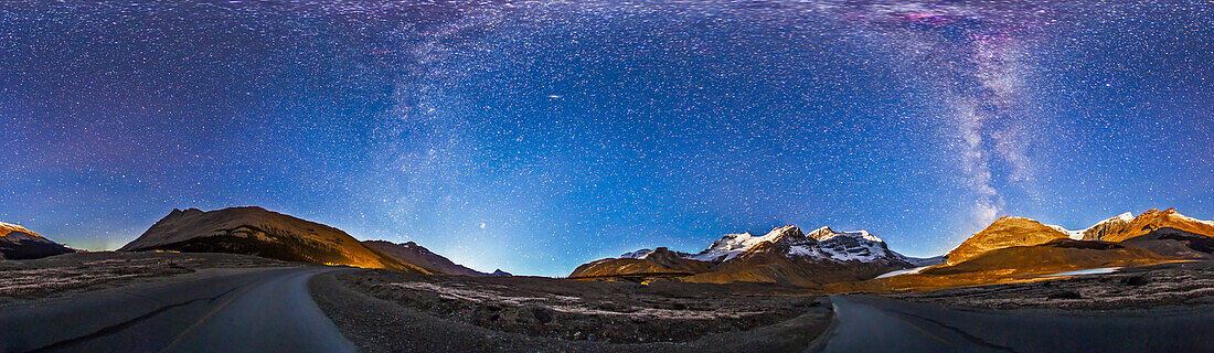
[[[1214,220],[1214,2],[5,1],[0,221],[259,205],[565,275],[783,224]]]

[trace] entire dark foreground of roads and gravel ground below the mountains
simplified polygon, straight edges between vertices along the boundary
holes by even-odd
[[[15,328],[0,332],[0,352],[90,352],[98,345],[293,352],[1191,352],[1203,351],[1195,347],[1209,336],[1199,323],[1210,320],[1212,289],[1214,262],[884,298],[840,295],[832,302],[771,284],[472,278],[226,254],[72,254],[0,262],[0,326]]]

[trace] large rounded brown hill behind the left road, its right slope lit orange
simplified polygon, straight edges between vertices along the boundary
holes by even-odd
[[[430,273],[346,232],[261,207],[172,210],[119,251],[231,252],[283,261]]]

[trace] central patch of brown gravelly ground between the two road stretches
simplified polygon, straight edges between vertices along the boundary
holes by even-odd
[[[368,352],[799,352],[832,315],[824,297],[770,285],[351,271],[312,292]]]

